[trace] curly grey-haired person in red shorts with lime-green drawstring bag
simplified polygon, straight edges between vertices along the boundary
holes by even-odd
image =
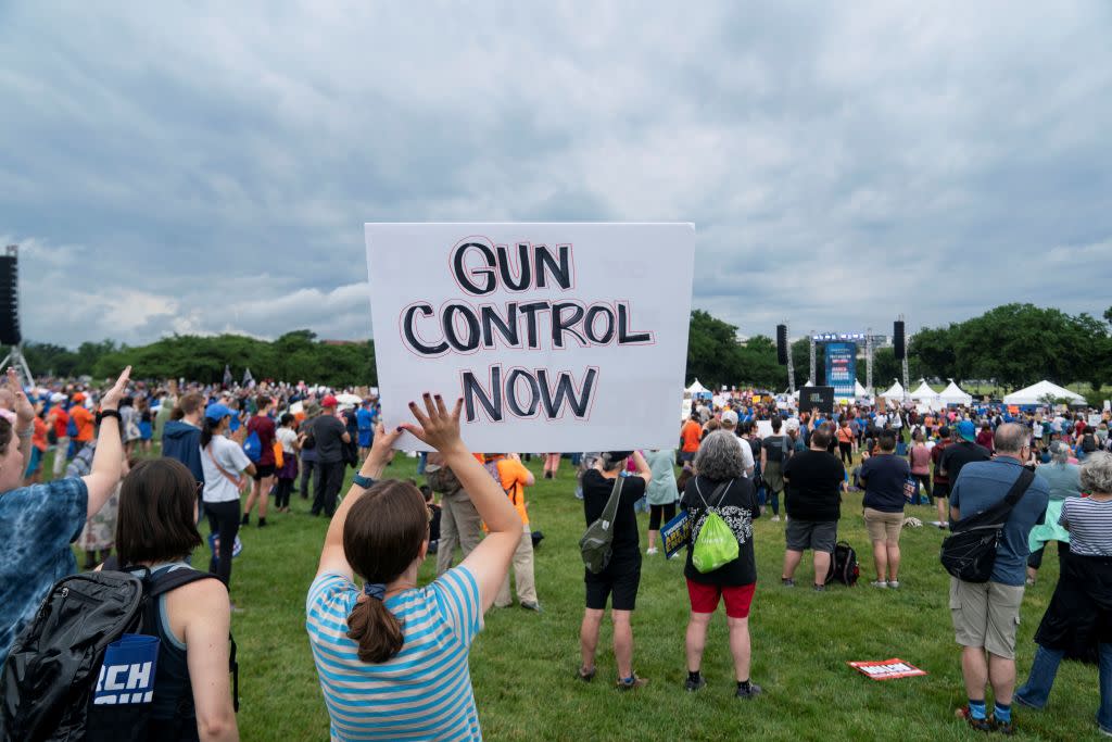
[[[701,670],[703,650],[706,647],[707,626],[721,597],[726,604],[729,651],[734,656],[737,679],[736,695],[752,699],[761,694],[761,686],[749,681],[749,606],[757,586],[753,521],[761,517],[761,507],[753,481],[745,477],[745,465],[737,445],[731,439],[733,435],[719,431],[703,441],[695,456],[695,476],[687,483],[679,501],[692,523],[687,564],[684,566],[692,607],[687,623],[687,682],[684,687],[694,692],[706,684]],[[738,556],[717,570],[703,573],[695,568],[692,555],[712,508],[722,516],[737,540]]]

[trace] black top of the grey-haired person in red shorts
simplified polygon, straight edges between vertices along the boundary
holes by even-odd
[[[679,499],[679,507],[687,511],[687,517],[692,520],[692,540],[687,544],[687,564],[684,566],[684,576],[692,582],[704,585],[723,585],[736,587],[737,585],[752,585],[757,581],[757,564],[753,555],[753,522],[761,517],[761,506],[757,505],[756,491],[753,481],[747,478],[733,479],[728,487],[715,496],[715,489],[721,482],[714,482],[702,476],[694,476],[687,482],[684,496]],[[702,496],[699,494],[702,493]],[[722,516],[729,530],[737,538],[737,558],[727,564],[723,564],[713,572],[699,572],[692,564],[692,550],[695,548],[695,540],[706,521],[706,505],[715,508]]]

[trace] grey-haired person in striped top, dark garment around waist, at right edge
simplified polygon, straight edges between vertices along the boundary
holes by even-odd
[[[1015,702],[1042,709],[1066,650],[1095,643],[1101,694],[1096,725],[1112,736],[1112,454],[1090,454],[1080,479],[1089,496],[1062,501],[1059,521],[1070,532],[1070,557],[1035,632],[1039,649]]]

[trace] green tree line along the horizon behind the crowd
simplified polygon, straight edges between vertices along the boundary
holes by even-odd
[[[913,379],[991,379],[1005,388],[1049,378],[1058,384],[1085,383],[1093,389],[1112,383],[1112,307],[1103,320],[1089,314],[1069,315],[1032,304],[1006,304],[979,317],[911,336],[907,365]],[[696,309],[691,315],[687,382],[706,386],[787,387],[787,369],[776,363],[776,344],[766,335],[745,342],[737,327]],[[330,386],[376,386],[374,342],[345,345],[321,342],[307,329],[275,340],[240,335],[200,337],[173,335],[142,346],[112,340],[82,343],[76,349],[49,343],[27,343],[23,355],[36,374],[105,378],[126,365],[136,378],[186,378],[220,383],[225,365],[238,382],[250,368],[256,379],[306,380]],[[810,340],[792,344],[796,385],[810,373]],[[822,346],[816,376],[825,378]],[[891,346],[873,353],[873,383],[886,387],[903,375]],[[857,377],[865,380],[864,360]]]

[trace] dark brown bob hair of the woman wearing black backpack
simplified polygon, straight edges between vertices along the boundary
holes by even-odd
[[[197,481],[180,462],[149,458],[136,464],[120,486],[120,565],[181,558],[200,546],[196,503]]]

